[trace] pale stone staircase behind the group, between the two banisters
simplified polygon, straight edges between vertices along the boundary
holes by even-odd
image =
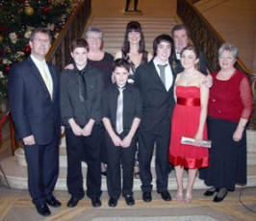
[[[153,39],[163,33],[169,34],[171,28],[175,25],[173,18],[151,18],[143,16],[94,17],[91,24],[102,28],[104,33],[105,51],[114,55],[117,50],[120,50],[126,24],[131,20],[137,20],[141,23],[145,37],[146,49],[150,52],[152,52]],[[248,144],[250,145],[250,147],[248,147],[249,152],[247,163],[248,186],[256,185],[256,149],[253,147],[254,144],[254,141]],[[5,170],[9,183],[13,188],[27,188],[27,168],[23,149],[16,150],[15,157],[6,158],[1,161],[1,164]],[[82,166],[84,168],[84,178],[86,178],[87,165],[83,162]],[[152,160],[151,168],[155,189],[156,179],[154,159]],[[5,181],[3,180],[1,173],[0,179],[4,184]],[[84,184],[86,184],[86,179],[84,179]],[[184,184],[187,184],[187,179],[184,179]],[[169,175],[168,186],[169,189],[175,189],[177,187],[173,171]],[[196,179],[194,188],[206,188],[206,185],[201,180]],[[66,189],[66,154],[64,138],[62,139],[60,146],[60,176],[56,184],[56,189]],[[104,176],[102,176],[102,190],[107,190],[106,178]],[[135,179],[134,190],[141,190],[141,180]]]

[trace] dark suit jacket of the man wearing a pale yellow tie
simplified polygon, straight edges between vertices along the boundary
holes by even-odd
[[[10,110],[15,132],[22,139],[34,135],[38,145],[61,135],[60,74],[47,63],[53,81],[53,98],[34,61],[29,57],[13,66],[8,79]]]

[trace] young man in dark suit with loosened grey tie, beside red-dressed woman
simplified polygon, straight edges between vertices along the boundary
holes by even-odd
[[[167,191],[170,116],[174,106],[173,86],[176,73],[168,62],[173,40],[167,35],[153,42],[154,59],[136,71],[136,86],[141,90],[142,117],[139,131],[139,160],[141,190],[144,202],[152,200],[152,174],[150,163],[156,143],[157,192],[165,201],[171,197]]]

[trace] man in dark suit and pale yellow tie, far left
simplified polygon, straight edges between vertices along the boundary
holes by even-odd
[[[30,57],[9,75],[9,101],[16,135],[24,144],[29,192],[38,213],[46,216],[51,213],[47,204],[61,206],[53,195],[59,175],[60,75],[45,61],[48,30],[36,29],[29,44]]]

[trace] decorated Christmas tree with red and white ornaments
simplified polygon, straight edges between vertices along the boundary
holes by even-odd
[[[47,27],[53,37],[64,27],[71,0],[0,0],[0,99],[7,95],[11,65],[30,54],[32,31]]]

